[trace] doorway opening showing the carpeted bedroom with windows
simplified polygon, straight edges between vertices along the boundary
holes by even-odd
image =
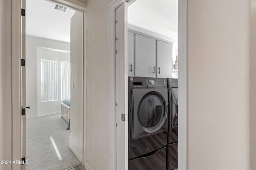
[[[26,0],[28,170],[82,163],[83,47],[83,12],[48,0]]]

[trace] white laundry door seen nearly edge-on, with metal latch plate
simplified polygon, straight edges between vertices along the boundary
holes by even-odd
[[[116,170],[128,170],[127,2],[116,8]],[[122,115],[124,119],[122,120]]]

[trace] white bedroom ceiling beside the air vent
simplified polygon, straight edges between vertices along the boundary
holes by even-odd
[[[46,0],[26,0],[26,35],[70,42],[70,19],[75,11],[54,9]]]

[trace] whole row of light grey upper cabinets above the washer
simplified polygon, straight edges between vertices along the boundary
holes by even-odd
[[[172,78],[172,42],[128,31],[127,64],[128,76]]]

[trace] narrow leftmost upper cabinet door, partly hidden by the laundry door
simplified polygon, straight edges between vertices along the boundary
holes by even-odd
[[[134,42],[133,33],[128,31],[128,76],[133,76]]]

